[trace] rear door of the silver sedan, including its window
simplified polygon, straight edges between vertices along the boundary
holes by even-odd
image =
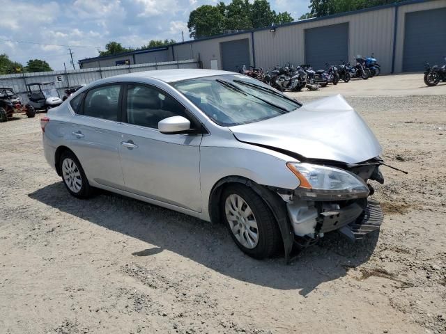
[[[118,152],[122,92],[121,84],[102,85],[89,90],[79,106],[71,104],[76,115],[68,136],[90,182],[123,190]]]

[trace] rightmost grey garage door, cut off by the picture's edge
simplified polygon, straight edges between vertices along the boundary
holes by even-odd
[[[443,64],[446,56],[446,8],[406,13],[403,71],[424,70],[424,63]]]

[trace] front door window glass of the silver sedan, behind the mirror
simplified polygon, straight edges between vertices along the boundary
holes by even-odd
[[[127,90],[127,122],[141,127],[158,128],[158,122],[171,116],[187,118],[185,107],[162,90],[129,85]]]

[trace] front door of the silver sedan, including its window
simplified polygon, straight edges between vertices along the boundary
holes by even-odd
[[[188,118],[185,107],[159,88],[129,84],[123,109],[119,154],[127,191],[201,212],[201,135],[157,129],[164,118]]]

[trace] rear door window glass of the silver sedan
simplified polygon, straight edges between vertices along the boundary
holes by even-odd
[[[118,120],[121,85],[89,90],[84,101],[84,115],[103,120]]]

